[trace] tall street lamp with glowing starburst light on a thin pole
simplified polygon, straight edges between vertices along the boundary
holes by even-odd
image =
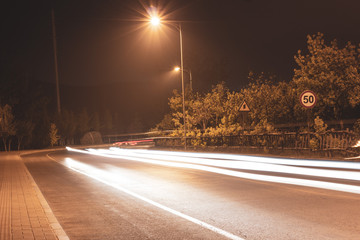
[[[153,26],[159,26],[161,23],[160,17],[152,15],[150,18],[150,23]],[[173,25],[177,30],[179,30],[180,37],[180,69],[184,69],[183,61],[183,39],[182,39],[182,28],[181,23],[178,22],[177,25]],[[179,69],[179,70],[180,70]],[[184,148],[186,150],[186,115],[185,115],[185,90],[184,90],[184,71],[181,71],[181,91],[182,91],[182,102],[183,102],[183,117],[184,117]]]

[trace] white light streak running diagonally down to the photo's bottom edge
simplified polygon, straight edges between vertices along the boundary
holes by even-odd
[[[176,215],[178,217],[184,218],[184,219],[186,219],[186,220],[188,220],[190,222],[198,224],[201,227],[209,229],[209,230],[211,230],[213,232],[216,232],[216,233],[218,233],[220,235],[223,235],[223,236],[225,236],[225,237],[227,237],[229,239],[244,240],[243,238],[241,238],[239,236],[236,236],[236,235],[234,235],[232,233],[229,233],[229,232],[227,232],[225,230],[222,230],[222,229],[217,228],[217,227],[215,227],[213,225],[210,225],[210,224],[208,224],[206,222],[203,222],[201,220],[198,220],[196,218],[188,216],[188,215],[186,215],[184,213],[176,211],[176,210],[174,210],[172,208],[164,206],[164,205],[162,205],[162,204],[160,204],[158,202],[155,202],[155,201],[153,201],[153,200],[151,200],[149,198],[143,197],[143,196],[141,196],[141,195],[139,195],[139,194],[137,194],[135,192],[132,192],[132,191],[126,189],[126,188],[123,188],[123,187],[119,186],[116,182],[114,182],[114,179],[116,181],[116,179],[118,179],[119,176],[111,175],[108,171],[99,170],[99,169],[97,169],[95,167],[92,167],[92,166],[90,166],[88,164],[84,164],[84,163],[75,161],[75,160],[73,160],[71,158],[66,158],[65,162],[64,162],[64,165],[67,166],[68,168],[78,172],[78,173],[86,175],[86,176],[88,176],[88,177],[90,177],[92,179],[95,179],[95,180],[97,180],[99,182],[102,182],[102,183],[104,183],[104,184],[106,184],[108,186],[111,186],[111,187],[113,187],[115,189],[118,189],[118,190],[120,190],[122,192],[125,192],[126,194],[128,194],[128,195],[130,195],[130,196],[132,196],[134,198],[140,199],[140,200],[142,200],[144,202],[147,202],[147,203],[149,203],[149,204],[151,204],[151,205],[153,205],[155,207],[158,207],[158,208],[160,208],[162,210],[170,212],[170,213],[172,213],[172,214],[174,214],[174,215]],[[110,179],[112,179],[112,180],[110,180]]]

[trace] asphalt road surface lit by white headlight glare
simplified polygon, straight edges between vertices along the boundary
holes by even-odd
[[[358,193],[164,165],[175,156],[163,157],[159,165],[154,156],[146,162],[141,154],[95,154],[23,156],[70,239],[360,239]],[[360,185],[351,179],[213,168]],[[343,171],[360,176],[359,170]]]

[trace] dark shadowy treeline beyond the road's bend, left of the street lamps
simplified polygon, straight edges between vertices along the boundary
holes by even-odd
[[[141,132],[145,129],[136,116],[132,121],[124,120],[124,115],[120,114],[121,109],[113,111],[106,107],[86,108],[85,105],[76,104],[75,97],[73,106],[63,106],[59,115],[54,84],[29,79],[26,76],[2,79],[1,150],[79,144],[83,135],[89,131],[99,131],[104,135]],[[68,92],[68,89],[62,88],[63,95],[68,95]],[[89,106],[91,107],[90,103],[87,107]]]

